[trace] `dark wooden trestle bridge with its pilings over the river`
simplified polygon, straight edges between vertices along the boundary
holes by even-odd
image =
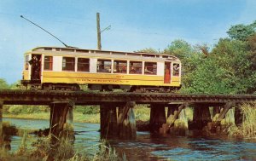
[[[231,107],[255,101],[256,95],[0,90],[0,121],[2,121],[3,105],[47,105],[50,107],[49,128],[52,134],[59,135],[67,119],[73,119],[73,106],[100,105],[102,135],[134,138],[136,129],[133,123],[127,124],[127,120],[129,122],[128,118],[136,104],[149,104],[150,130],[166,133],[186,106],[194,107],[194,117],[189,129],[202,129],[211,124],[210,129],[214,131]],[[209,112],[210,106],[213,106],[213,115],[218,113],[218,118],[214,122]],[[166,107],[168,107],[167,118],[172,115],[172,121],[169,123],[166,123]],[[235,108],[235,122],[236,124],[242,122],[239,108]]]

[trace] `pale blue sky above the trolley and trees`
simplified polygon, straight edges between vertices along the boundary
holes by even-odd
[[[213,47],[230,26],[256,20],[255,0],[0,0],[0,78],[22,78],[24,53],[38,46],[63,44],[20,18],[42,26],[67,45],[96,49],[96,13],[102,49],[166,49],[183,39]]]

